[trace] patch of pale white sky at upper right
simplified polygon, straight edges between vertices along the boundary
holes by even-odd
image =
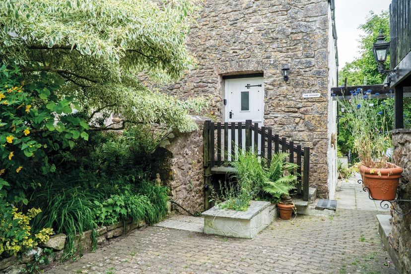
[[[364,32],[358,26],[365,23],[370,10],[379,14],[388,10],[391,0],[335,0],[338,59],[340,69],[351,62],[358,53],[358,39]]]

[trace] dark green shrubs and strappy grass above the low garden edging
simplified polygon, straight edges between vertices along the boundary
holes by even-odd
[[[42,183],[30,193],[35,199],[29,205],[44,209],[33,229],[50,226],[67,234],[67,258],[81,252],[74,246],[75,234],[119,221],[164,218],[168,189],[146,182],[157,141],[145,126],[122,134],[90,132],[88,141],[49,157],[57,167],[53,174],[30,169],[30,177],[41,177]]]

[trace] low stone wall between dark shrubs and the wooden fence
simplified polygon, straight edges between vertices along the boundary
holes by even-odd
[[[154,152],[152,176],[157,174],[163,185],[170,188],[170,196],[190,213],[204,211],[203,129],[209,118],[193,116],[199,129],[190,133],[169,132]],[[172,204],[172,210],[188,213]]]

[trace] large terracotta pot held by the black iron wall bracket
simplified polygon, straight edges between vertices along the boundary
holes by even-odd
[[[360,166],[360,173],[364,186],[369,189],[371,198],[375,200],[394,200],[397,195],[403,169],[395,164],[390,168],[370,168]],[[374,170],[372,170],[374,169]],[[371,173],[370,171],[374,171]],[[381,173],[381,176],[378,174]]]

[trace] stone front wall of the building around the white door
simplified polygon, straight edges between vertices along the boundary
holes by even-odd
[[[224,121],[225,75],[264,73],[264,123],[294,143],[312,148],[310,186],[319,196],[328,194],[328,117],[332,104],[329,67],[330,7],[328,0],[205,0],[201,18],[188,40],[198,66],[168,92],[180,98],[210,98],[207,115]],[[333,55],[330,57],[330,55]],[[330,57],[330,58],[329,58]],[[289,64],[289,81],[281,68]],[[303,93],[321,98],[303,99]],[[335,152],[334,152],[335,154]],[[331,158],[335,161],[335,157]],[[336,180],[335,180],[336,182]],[[333,183],[335,183],[333,182]]]

